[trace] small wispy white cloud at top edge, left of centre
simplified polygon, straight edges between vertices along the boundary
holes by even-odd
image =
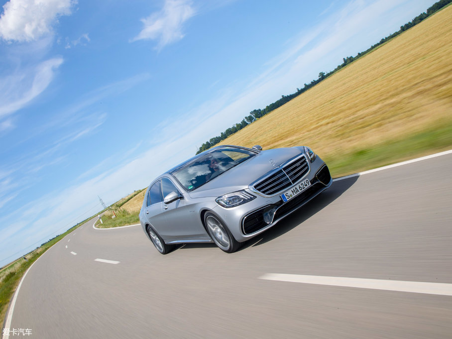
[[[156,48],[160,50],[184,37],[182,25],[195,13],[189,0],[166,0],[162,10],[141,19],[144,28],[132,41],[158,40]]]

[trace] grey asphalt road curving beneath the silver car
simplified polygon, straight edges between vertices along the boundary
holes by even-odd
[[[450,295],[260,277],[451,284],[451,169],[449,154],[336,181],[233,254],[196,244],[161,255],[140,226],[91,221],[32,266],[10,328],[33,339],[450,339]]]

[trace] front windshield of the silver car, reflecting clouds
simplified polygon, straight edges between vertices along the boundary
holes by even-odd
[[[188,191],[193,191],[254,155],[255,152],[247,149],[215,148],[176,169],[172,174]]]

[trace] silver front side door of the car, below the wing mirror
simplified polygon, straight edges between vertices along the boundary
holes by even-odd
[[[170,178],[162,178],[162,196],[166,197],[169,193],[176,192],[181,197],[183,196],[177,186]],[[164,239],[179,240],[179,239],[208,239],[204,226],[201,224],[198,215],[193,211],[193,207],[187,204],[185,198],[178,199],[172,203],[163,203],[163,213],[166,216],[167,229],[165,230]]]

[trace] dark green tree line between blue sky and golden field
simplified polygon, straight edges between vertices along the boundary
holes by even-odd
[[[438,10],[440,10],[441,8],[443,8],[444,6],[449,4],[451,1],[452,0],[440,0],[440,1],[436,2],[436,3],[434,3],[432,6],[427,8],[427,12],[423,12],[423,13],[419,14],[418,16],[413,18],[413,20],[411,20],[411,21],[407,22],[406,24],[400,26],[400,30],[398,30],[397,32],[394,32],[391,35],[388,35],[387,37],[381,39],[379,42],[377,42],[375,45],[370,46],[370,48],[368,48],[364,52],[360,52],[357,55],[355,55],[354,57],[353,56],[349,56],[349,57],[342,58],[343,62],[340,65],[338,65],[338,67],[336,67],[333,71],[331,71],[329,73],[320,72],[318,79],[315,79],[315,80],[311,81],[309,84],[305,83],[303,88],[301,88],[301,89],[297,88],[297,92],[295,92],[293,94],[290,94],[288,96],[284,96],[284,95],[281,96],[281,99],[275,101],[274,103],[272,103],[270,105],[267,105],[264,109],[257,109],[257,110],[251,111],[249,113],[249,115],[245,116],[240,122],[235,123],[231,127],[227,128],[219,136],[215,136],[215,137],[211,138],[210,140],[204,142],[201,145],[201,147],[199,148],[199,150],[196,152],[196,154],[199,154],[199,153],[201,153],[201,152],[203,152],[203,151],[215,146],[216,144],[218,144],[219,142],[225,140],[228,136],[230,136],[230,135],[234,134],[235,132],[239,131],[240,129],[242,129],[246,125],[254,122],[255,120],[257,120],[258,118],[264,116],[265,114],[268,114],[268,113],[270,113],[273,110],[276,110],[278,107],[284,105],[285,103],[289,102],[290,100],[294,99],[295,97],[298,97],[300,94],[306,92],[307,90],[309,90],[313,86],[317,85],[321,81],[323,81],[326,78],[328,78],[329,76],[333,75],[334,73],[339,71],[341,68],[347,66],[351,62],[359,59],[360,57],[362,57],[364,55],[366,55],[367,53],[369,53],[370,51],[372,51],[374,48],[378,47],[379,45],[384,44],[385,42],[393,39],[394,37],[396,37],[397,35],[401,34],[404,31],[406,31],[407,29],[409,29],[409,28],[417,25],[421,21],[425,20],[427,17],[429,17],[433,13],[437,12]]]

